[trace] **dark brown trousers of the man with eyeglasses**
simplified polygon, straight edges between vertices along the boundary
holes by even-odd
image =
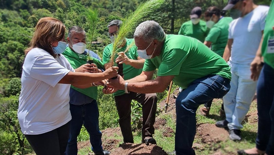
[[[131,100],[136,100],[142,105],[142,137],[154,134],[153,125],[157,110],[157,95],[155,93],[139,94],[130,92],[129,94],[115,96],[116,108],[119,115],[119,125],[125,143],[134,143],[131,131]]]

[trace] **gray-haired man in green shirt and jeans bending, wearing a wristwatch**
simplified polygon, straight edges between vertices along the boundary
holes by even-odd
[[[175,151],[177,155],[195,155],[192,143],[196,133],[196,110],[199,105],[222,98],[229,91],[228,64],[197,39],[166,35],[155,21],[139,24],[134,37],[139,56],[146,59],[143,72],[126,81],[120,76],[110,80],[104,93],[117,90],[163,92],[171,81],[184,88],[176,99]],[[157,68],[157,78],[152,80]]]

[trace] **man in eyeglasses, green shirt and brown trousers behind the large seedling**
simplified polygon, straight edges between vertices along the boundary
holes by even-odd
[[[111,67],[110,59],[113,51],[113,42],[115,41],[121,24],[121,20],[113,20],[107,25],[112,43],[107,45],[103,51],[103,64],[105,69]],[[138,76],[142,72],[145,60],[139,57],[134,39],[125,38],[120,46],[119,54],[121,52],[122,54],[115,55],[114,59],[116,63],[123,64],[124,79],[131,79]],[[128,50],[126,51],[127,48]],[[154,134],[153,125],[157,110],[156,93],[140,94],[120,90],[114,93],[114,97],[124,143],[134,143],[131,131],[131,101],[136,100],[142,105],[143,112],[142,143],[147,145],[156,144],[156,140],[152,137]]]

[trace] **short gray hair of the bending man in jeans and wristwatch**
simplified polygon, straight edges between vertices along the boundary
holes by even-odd
[[[145,42],[152,42],[154,39],[162,42],[165,39],[166,34],[157,22],[154,20],[147,20],[137,26],[133,37],[141,37]]]

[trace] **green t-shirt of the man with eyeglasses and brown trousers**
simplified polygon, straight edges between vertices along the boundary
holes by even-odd
[[[134,39],[127,39],[126,38],[126,44],[124,47],[122,47],[119,52],[123,52],[126,50],[126,48],[128,46],[130,46],[130,44],[134,42]],[[103,51],[103,64],[107,64],[110,61],[111,58],[111,54],[112,54],[112,50],[113,50],[113,44],[109,44],[105,47],[104,51]],[[132,60],[138,60],[137,57],[138,52],[137,52],[137,47],[135,46],[135,44],[125,53],[125,55],[132,59]],[[116,60],[116,58],[118,57],[118,55],[116,54],[114,57],[114,61]],[[138,75],[140,75],[142,73],[142,69],[136,69],[130,65],[127,64],[123,64],[123,73],[124,73],[124,79],[128,80],[131,78],[134,78]],[[125,94],[124,90],[119,90],[117,92],[114,93],[114,96],[120,96]]]

